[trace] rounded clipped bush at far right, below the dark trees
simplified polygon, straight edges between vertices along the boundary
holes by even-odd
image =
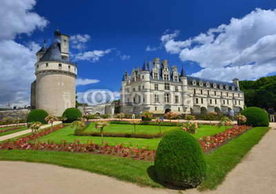
[[[265,110],[258,107],[249,107],[242,110],[241,115],[246,117],[246,125],[250,126],[268,126],[269,119]]]

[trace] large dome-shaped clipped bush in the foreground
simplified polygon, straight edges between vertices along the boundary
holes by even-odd
[[[190,133],[171,130],[162,137],[155,155],[155,172],[161,182],[198,186],[206,174],[204,152]]]

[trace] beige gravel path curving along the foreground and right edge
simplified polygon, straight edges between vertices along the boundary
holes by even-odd
[[[218,186],[216,191],[196,189],[181,193],[275,193],[276,124]],[[180,193],[178,190],[142,188],[111,177],[50,164],[0,162],[0,193]]]

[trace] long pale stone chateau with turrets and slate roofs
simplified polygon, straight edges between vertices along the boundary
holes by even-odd
[[[235,113],[244,108],[244,93],[237,78],[230,83],[192,77],[186,75],[183,66],[179,74],[177,66],[170,67],[166,59],[160,63],[159,58],[148,63],[144,59],[143,67],[132,68],[131,75],[125,72],[120,97],[123,113],[226,114],[231,108]]]

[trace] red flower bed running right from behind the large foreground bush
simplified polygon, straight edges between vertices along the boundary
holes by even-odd
[[[247,130],[250,130],[251,128],[252,126],[236,125],[233,128],[229,128],[228,130],[225,130],[224,132],[221,132],[215,135],[210,135],[208,137],[204,136],[198,139],[198,141],[205,152],[219,146],[220,144],[230,141],[230,139],[233,139],[235,137],[238,137],[239,135],[242,135],[242,133],[246,132]]]

